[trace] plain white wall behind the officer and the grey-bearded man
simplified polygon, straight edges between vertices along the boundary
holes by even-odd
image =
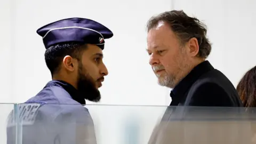
[[[114,33],[113,38],[106,40],[103,50],[109,75],[100,89],[102,100],[99,104],[169,105],[170,90],[158,86],[145,49],[147,20],[154,14],[172,9],[184,10],[206,23],[213,43],[209,61],[236,86],[243,74],[255,65],[255,6],[253,0],[1,0],[0,102],[25,102],[51,80],[44,61],[42,37],[36,30],[63,18],[83,17],[101,22]],[[104,110],[110,113],[103,107],[91,110],[95,121],[101,125],[115,118],[106,121],[106,117],[100,115],[105,113]],[[154,116],[148,111],[145,121],[155,123],[156,111],[154,115],[156,118],[150,119]],[[145,121],[141,122],[144,126]],[[153,129],[154,125],[150,126],[148,129]],[[109,132],[107,129],[102,131]],[[147,132],[145,139],[151,133]],[[4,135],[5,130],[0,133]],[[111,131],[111,134],[115,133],[118,131]],[[5,137],[1,140],[5,141]]]

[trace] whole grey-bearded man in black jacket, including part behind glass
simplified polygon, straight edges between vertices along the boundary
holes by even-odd
[[[149,64],[158,84],[172,89],[170,106],[173,106],[166,109],[149,143],[202,143],[202,134],[209,135],[204,131],[208,129],[189,125],[189,119],[202,122],[202,117],[209,118],[209,114],[211,118],[223,116],[223,109],[210,107],[242,107],[233,84],[206,60],[212,49],[206,37],[206,26],[183,11],[173,10],[152,17],[147,23],[147,31]],[[198,108],[200,106],[209,108]],[[234,114],[232,112],[230,114]],[[188,123],[183,123],[184,120]],[[204,126],[209,128],[208,124]],[[211,126],[213,130],[214,125]],[[225,132],[229,133],[229,128]],[[212,138],[223,141],[218,134]]]

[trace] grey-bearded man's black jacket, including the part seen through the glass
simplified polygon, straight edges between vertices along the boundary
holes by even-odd
[[[235,138],[240,138],[234,132],[247,131],[242,131],[237,126],[239,124],[233,123],[239,117],[239,107],[243,106],[235,87],[209,61],[204,61],[191,70],[174,87],[170,96],[170,107],[153,130],[148,142],[150,144],[214,143],[216,140],[219,143],[234,143]],[[223,127],[218,122],[227,124]],[[220,131],[222,134],[218,134]],[[224,137],[223,133],[226,134]],[[230,139],[226,138],[228,135]],[[237,143],[243,143],[242,140],[235,139]]]

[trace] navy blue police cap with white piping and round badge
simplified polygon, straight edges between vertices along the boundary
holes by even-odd
[[[105,39],[113,36],[112,31],[99,22],[84,18],[55,21],[39,28],[36,33],[43,37],[45,49],[59,43],[78,42],[94,44],[103,50]]]

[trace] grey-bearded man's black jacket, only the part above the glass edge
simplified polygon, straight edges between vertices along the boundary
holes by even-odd
[[[197,65],[170,94],[170,106],[242,107],[229,79],[209,61]]]

